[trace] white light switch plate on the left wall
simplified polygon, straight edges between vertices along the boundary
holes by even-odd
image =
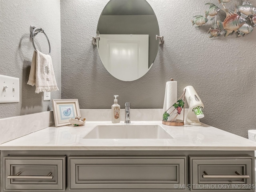
[[[0,75],[0,103],[20,102],[20,79]]]

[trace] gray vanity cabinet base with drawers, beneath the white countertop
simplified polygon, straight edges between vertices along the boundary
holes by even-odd
[[[254,192],[255,188],[254,151],[1,151],[1,161],[3,192]]]

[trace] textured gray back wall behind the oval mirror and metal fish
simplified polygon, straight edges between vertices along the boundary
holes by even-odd
[[[162,108],[165,83],[174,78],[178,95],[185,86],[194,86],[205,106],[202,122],[247,137],[256,125],[256,31],[241,38],[208,38],[212,23],[195,28],[190,20],[209,8],[205,3],[219,5],[218,0],[148,0],[164,45],[145,76],[123,82],[105,70],[91,43],[107,2],[60,2],[62,99],[78,98],[81,109],[111,108],[118,94],[122,108],[127,101],[131,108]],[[256,6],[256,0],[251,3]]]

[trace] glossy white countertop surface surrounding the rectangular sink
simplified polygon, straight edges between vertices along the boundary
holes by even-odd
[[[256,142],[206,124],[166,126],[161,121],[134,121],[131,124],[160,125],[174,138],[84,139],[97,125],[114,125],[111,122],[86,122],[78,127],[48,127],[3,143],[0,150],[256,150]]]

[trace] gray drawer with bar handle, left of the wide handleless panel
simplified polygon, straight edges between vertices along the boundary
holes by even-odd
[[[66,156],[4,157],[4,190],[66,189]]]

